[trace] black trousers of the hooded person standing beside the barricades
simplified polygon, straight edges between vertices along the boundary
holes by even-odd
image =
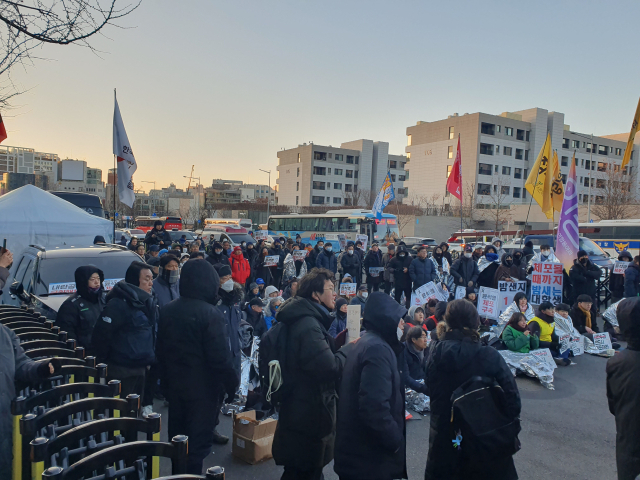
[[[211,453],[217,420],[217,398],[183,399],[169,395],[169,438],[189,437],[187,473],[201,475],[204,459]]]

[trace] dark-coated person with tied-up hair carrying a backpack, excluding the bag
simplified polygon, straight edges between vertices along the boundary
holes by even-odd
[[[502,355],[495,348],[481,345],[479,341],[480,322],[475,307],[466,300],[449,302],[444,320],[437,329],[439,341],[431,346],[427,360],[426,384],[431,399],[431,430],[425,479],[517,479],[510,453],[494,456],[490,462],[486,462],[486,459],[467,460],[452,448],[451,397],[467,380],[475,376],[495,380],[504,393],[502,413],[508,418],[517,419],[520,416],[521,403],[515,378]]]

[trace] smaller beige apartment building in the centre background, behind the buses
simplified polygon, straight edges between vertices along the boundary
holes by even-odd
[[[358,206],[375,196],[389,170],[397,199],[404,196],[404,155],[389,155],[388,142],[355,140],[340,147],[303,143],[278,152],[279,205]]]

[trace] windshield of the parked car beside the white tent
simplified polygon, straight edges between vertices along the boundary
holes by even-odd
[[[39,279],[35,294],[68,294],[75,291],[75,271],[82,265],[93,265],[104,272],[105,287],[122,280],[131,262],[139,260],[129,252],[105,252],[97,257],[44,258],[38,266]],[[69,285],[71,284],[71,285]]]

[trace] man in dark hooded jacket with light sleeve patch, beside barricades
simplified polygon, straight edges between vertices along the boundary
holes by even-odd
[[[109,365],[107,380],[121,382],[121,398],[137,393],[144,402],[145,373],[156,361],[157,320],[153,274],[146,263],[133,262],[107,295],[91,335],[97,361]]]

